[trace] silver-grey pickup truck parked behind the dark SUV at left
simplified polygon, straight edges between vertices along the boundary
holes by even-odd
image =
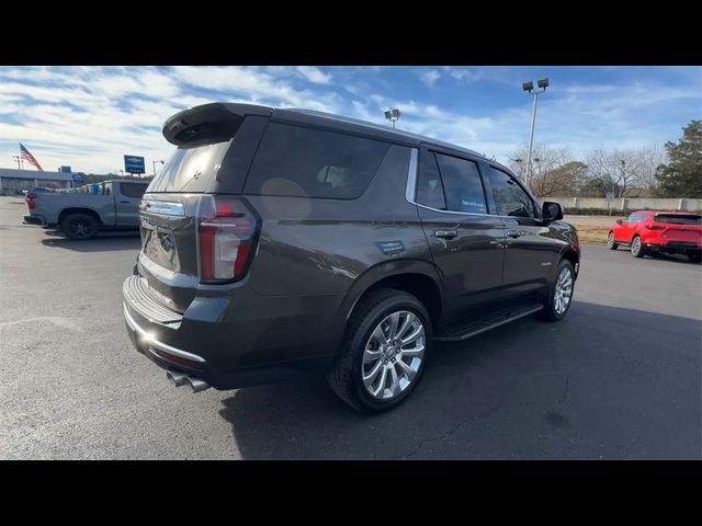
[[[91,185],[93,186],[93,185]],[[69,239],[93,238],[99,230],[139,228],[141,181],[105,181],[98,193],[29,192],[25,225],[59,228]]]

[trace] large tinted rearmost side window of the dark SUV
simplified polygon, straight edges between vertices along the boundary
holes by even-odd
[[[353,199],[365,191],[389,146],[380,140],[271,123],[245,192]]]

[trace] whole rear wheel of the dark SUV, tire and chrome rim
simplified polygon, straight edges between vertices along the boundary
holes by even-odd
[[[415,296],[378,289],[356,306],[327,379],[362,412],[382,412],[417,387],[431,348],[431,318]]]

